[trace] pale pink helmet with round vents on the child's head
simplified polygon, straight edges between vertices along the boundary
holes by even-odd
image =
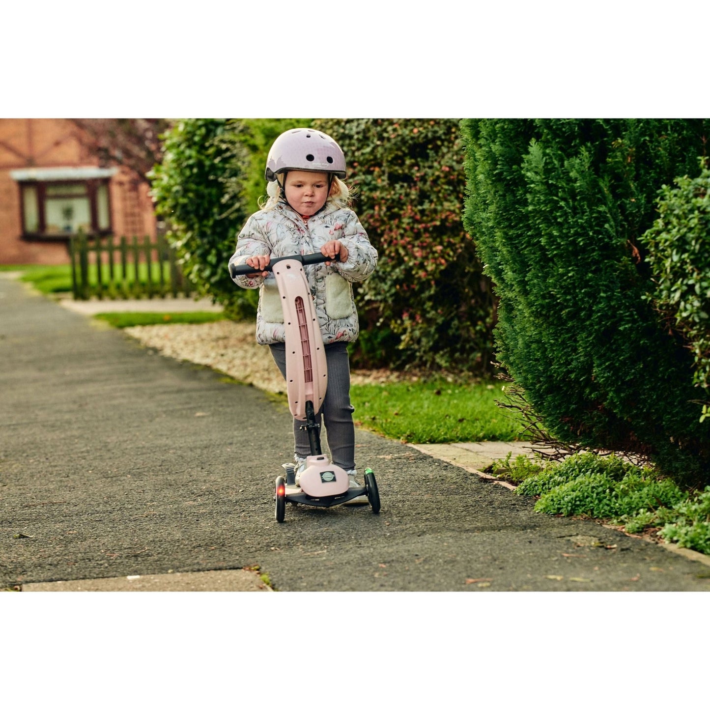
[[[266,180],[289,170],[310,170],[345,177],[345,155],[327,133],[314,129],[290,129],[273,142],[266,158]]]

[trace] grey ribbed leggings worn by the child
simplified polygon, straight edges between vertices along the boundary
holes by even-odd
[[[284,379],[286,378],[286,346],[285,343],[270,345],[271,355],[278,365]],[[347,343],[331,343],[325,346],[325,360],[328,365],[328,388],[323,405],[317,413],[316,420],[325,424],[325,432],[330,449],[330,459],[346,471],[355,468],[355,427],[350,404],[350,363]],[[308,434],[300,427],[305,422],[293,420],[294,453],[305,459],[310,456]]]

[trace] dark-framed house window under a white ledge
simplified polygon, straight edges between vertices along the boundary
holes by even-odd
[[[109,175],[104,168],[14,170],[25,239],[68,239],[111,233]],[[108,173],[108,175],[107,175]]]

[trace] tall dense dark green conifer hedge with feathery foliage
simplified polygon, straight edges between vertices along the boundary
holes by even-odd
[[[708,120],[466,119],[464,224],[500,297],[496,348],[559,440],[710,481],[693,356],[653,309],[640,236],[699,174]]]

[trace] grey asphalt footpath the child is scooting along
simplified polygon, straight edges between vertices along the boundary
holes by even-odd
[[[706,558],[535,513],[471,472],[475,444],[358,431],[381,513],[287,506],[279,525],[283,404],[6,278],[0,392],[0,589],[710,589]]]

